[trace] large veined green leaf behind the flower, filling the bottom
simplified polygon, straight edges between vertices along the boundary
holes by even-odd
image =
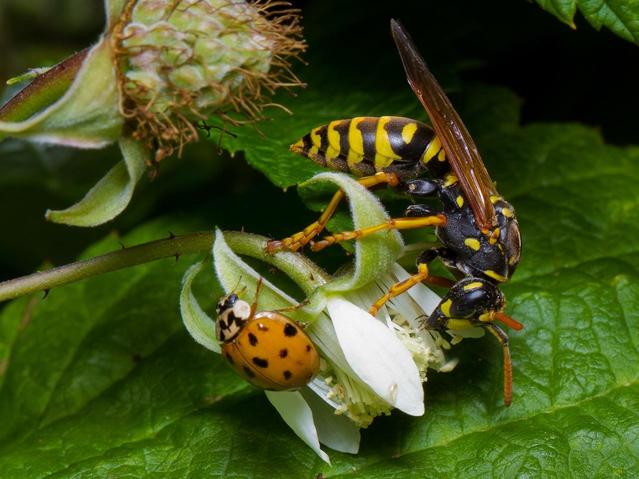
[[[466,339],[458,368],[426,384],[422,418],[378,420],[357,456],[331,452],[329,468],[189,337],[177,301],[189,262],[166,260],[4,309],[3,478],[638,475],[637,150],[567,124],[480,138],[524,239],[504,285],[507,312],[525,324],[511,334],[509,409],[497,342]],[[200,285],[199,297],[213,289]]]

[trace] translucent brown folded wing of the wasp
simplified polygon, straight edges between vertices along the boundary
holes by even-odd
[[[406,70],[408,83],[431,118],[449,163],[459,179],[459,185],[470,203],[477,225],[480,229],[493,229],[497,226],[497,218],[490,197],[497,196],[497,191],[475,142],[402,24],[390,20],[390,29]]]

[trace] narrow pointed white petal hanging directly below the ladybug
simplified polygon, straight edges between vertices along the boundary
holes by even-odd
[[[328,454],[319,447],[318,431],[313,422],[313,413],[302,395],[298,391],[265,391],[265,393],[284,422],[293,429],[293,432],[330,465]]]

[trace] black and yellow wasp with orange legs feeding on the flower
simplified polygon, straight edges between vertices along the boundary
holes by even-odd
[[[386,185],[415,198],[438,198],[441,206],[413,204],[403,218],[366,229],[325,236],[312,243],[343,197],[338,191],[318,221],[269,250],[293,250],[311,241],[321,250],[346,239],[361,238],[382,229],[435,227],[442,246],[422,252],[417,273],[392,287],[370,308],[374,316],[383,304],[419,282],[450,287],[428,316],[421,317],[426,330],[464,330],[483,326],[504,350],[504,404],[512,400],[512,365],[508,337],[495,321],[521,330],[521,323],[504,314],[505,298],[498,285],[517,269],[521,235],[514,208],[497,193],[479,151],[442,87],[431,74],[404,27],[391,20],[392,36],[408,76],[408,82],[433,123],[383,116],[332,121],[314,128],[291,146],[291,151],[322,166],[362,178],[364,186]],[[422,173],[429,178],[418,178]],[[429,265],[439,257],[457,282],[429,275]]]

